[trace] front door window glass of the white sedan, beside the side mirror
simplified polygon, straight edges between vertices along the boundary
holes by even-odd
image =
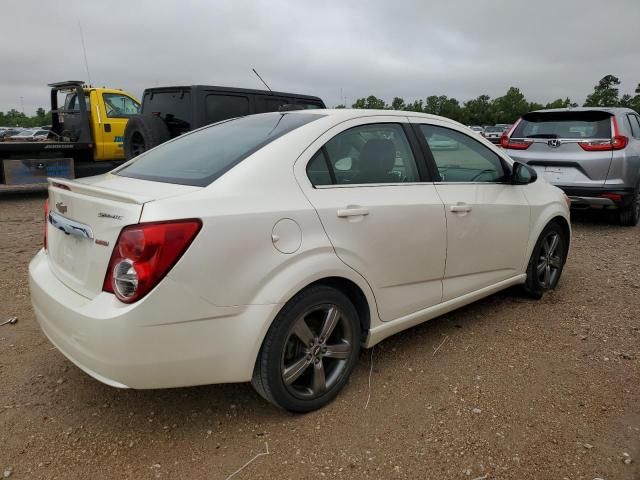
[[[500,157],[473,138],[444,127],[420,125],[443,182],[499,182]]]

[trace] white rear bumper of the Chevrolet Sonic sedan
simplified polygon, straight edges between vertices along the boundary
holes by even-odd
[[[95,379],[120,388],[251,380],[279,305],[216,307],[169,277],[133,305],[64,285],[44,251],[29,265],[31,301],[45,335]]]

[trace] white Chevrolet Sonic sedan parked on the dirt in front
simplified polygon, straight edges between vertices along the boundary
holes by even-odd
[[[49,181],[30,287],[62,353],[115,387],[251,381],[297,412],[340,391],[361,346],[553,289],[570,243],[559,189],[413,112],[252,115]]]

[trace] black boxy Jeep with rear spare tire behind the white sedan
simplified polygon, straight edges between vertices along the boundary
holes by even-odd
[[[297,93],[192,85],[147,88],[141,115],[124,133],[127,160],[196,128],[229,118],[281,109],[326,108],[319,97]]]

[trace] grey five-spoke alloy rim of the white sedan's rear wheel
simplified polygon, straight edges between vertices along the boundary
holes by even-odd
[[[285,388],[300,399],[331,389],[347,369],[354,335],[335,304],[307,310],[294,322],[285,342],[281,374]]]

